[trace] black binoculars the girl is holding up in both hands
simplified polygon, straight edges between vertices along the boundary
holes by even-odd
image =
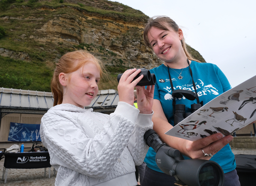
[[[143,78],[137,84],[138,86],[149,86],[149,85],[156,84],[156,75],[155,74],[151,74],[150,71],[148,69],[145,69],[145,68],[142,68],[140,70],[141,70],[141,72],[138,75],[136,75],[136,77],[132,81],[139,78],[140,75],[143,75]],[[119,82],[122,75],[123,74],[118,74],[117,75],[117,81],[118,82]]]

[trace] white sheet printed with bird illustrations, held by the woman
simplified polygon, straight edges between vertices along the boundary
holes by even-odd
[[[190,141],[232,135],[256,120],[256,75],[212,99],[165,134]]]

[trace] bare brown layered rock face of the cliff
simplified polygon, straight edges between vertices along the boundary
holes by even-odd
[[[65,6],[61,8],[65,9]],[[84,45],[84,49],[110,66],[117,63],[116,60],[113,63],[113,59],[117,58],[127,67],[151,68],[161,63],[143,43],[143,25],[146,20],[114,21],[115,17],[89,15],[81,9],[76,11],[82,15],[54,15],[54,18],[47,21],[41,29],[36,30],[40,33],[37,37],[30,37],[39,43],[61,43],[67,47],[87,44]],[[111,57],[111,60],[109,61],[107,57]]]

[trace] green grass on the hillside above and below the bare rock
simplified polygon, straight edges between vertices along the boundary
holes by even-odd
[[[5,48],[15,52],[14,56],[19,52],[27,53],[29,55],[29,60],[21,61],[15,60],[10,57],[0,56],[0,76],[2,78],[10,77],[12,79],[22,79],[23,81],[29,80],[29,83],[23,83],[22,89],[28,90],[38,90],[38,91],[51,91],[50,81],[54,71],[54,60],[59,58],[61,55],[70,52],[72,49],[65,47],[63,43],[59,42],[57,46],[52,43],[41,44],[35,42],[34,39],[30,39],[30,36],[34,37],[44,37],[42,33],[36,32],[35,30],[42,28],[42,26],[49,20],[58,14],[73,14],[74,18],[85,18],[86,22],[90,22],[97,26],[102,26],[103,24],[117,24],[114,21],[102,20],[102,19],[93,19],[88,20],[84,16],[83,11],[97,13],[101,15],[119,15],[121,18],[126,17],[140,17],[145,16],[140,11],[133,10],[129,6],[119,4],[116,2],[107,2],[110,6],[122,6],[123,11],[118,12],[114,10],[103,10],[97,7],[86,6],[82,3],[71,4],[71,3],[59,3],[59,0],[53,1],[39,1],[33,3],[33,1],[22,2],[13,1],[13,3],[6,6],[7,8],[4,11],[0,11],[0,18],[6,16],[18,19],[0,19],[1,28],[5,30],[5,36],[1,39],[0,48]],[[100,1],[101,3],[106,3],[106,1]],[[12,6],[12,9],[8,7]],[[21,6],[26,6],[25,9],[22,9]],[[53,7],[54,11],[41,10],[43,6]],[[65,5],[65,7],[61,7]],[[67,6],[74,7],[70,9]],[[107,9],[111,9],[110,6],[105,4]],[[108,7],[107,7],[108,6]],[[80,11],[77,11],[76,8],[79,7]],[[25,18],[33,17],[43,18],[43,20],[26,20]],[[20,36],[25,34],[25,39],[22,39]],[[103,78],[99,84],[99,89],[116,89],[117,90],[117,74],[123,73],[127,67],[124,65],[123,60],[117,60],[116,54],[110,50],[106,50],[103,46],[95,46],[93,44],[79,44],[74,46],[77,49],[86,49],[91,53],[99,52],[103,57],[103,61],[112,61],[113,65],[106,65],[108,71],[108,76]],[[53,52],[53,50],[57,52]],[[74,50],[74,49],[73,49]],[[7,79],[6,79],[7,80]],[[31,81],[30,81],[31,80]],[[3,83],[2,83],[3,84]],[[13,85],[11,85],[13,86]],[[1,82],[0,82],[0,87]],[[21,88],[21,87],[10,87],[10,88]]]

